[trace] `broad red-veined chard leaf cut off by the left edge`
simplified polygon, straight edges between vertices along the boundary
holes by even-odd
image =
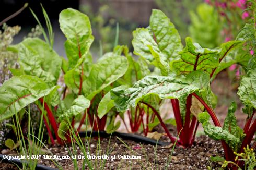
[[[28,104],[59,88],[48,85],[36,76],[14,76],[0,87],[0,121],[13,116]]]

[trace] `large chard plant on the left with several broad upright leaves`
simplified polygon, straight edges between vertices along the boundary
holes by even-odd
[[[68,60],[65,60],[52,48],[54,35],[44,9],[43,13],[49,31],[47,35],[42,30],[46,42],[39,38],[26,38],[9,47],[18,54],[20,68],[11,69],[14,77],[0,88],[0,121],[23,112],[27,105],[35,103],[41,114],[45,113],[43,119],[52,144],[55,140],[63,144],[63,140],[71,140],[67,135],[67,120],[74,128],[75,120],[79,120],[83,112],[85,114],[77,131],[86,115],[94,130],[104,130],[108,116],[99,119],[98,104],[115,81],[125,74],[128,63],[125,56],[114,52],[92,63],[89,48],[94,37],[89,18],[72,8],[63,10],[59,19],[60,28],[67,38],[64,46]],[[60,75],[63,75],[65,83],[62,88],[58,85]],[[115,116],[108,122],[110,131],[114,128]]]

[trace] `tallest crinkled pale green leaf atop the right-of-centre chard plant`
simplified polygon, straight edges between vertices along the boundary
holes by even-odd
[[[145,58],[167,76],[168,61],[177,58],[182,50],[179,33],[169,18],[162,11],[153,9],[149,27],[136,29],[133,37],[134,54]]]

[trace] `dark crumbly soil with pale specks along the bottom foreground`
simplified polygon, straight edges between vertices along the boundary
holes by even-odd
[[[168,162],[168,156],[171,153],[172,145],[167,147],[138,144],[133,141],[124,141],[129,147],[127,148],[117,137],[112,137],[109,144],[109,139],[101,139],[100,148],[101,155],[107,154],[108,145],[110,156],[112,155],[136,155],[141,159],[108,159],[103,165],[102,159],[91,159],[91,163],[96,169],[164,169]],[[99,147],[99,145],[98,145]],[[155,152],[155,148],[156,152]],[[49,150],[53,155],[70,155],[68,149],[74,150],[72,147],[51,147]],[[86,147],[88,149],[88,147]],[[83,155],[80,149],[76,147],[77,155]],[[99,152],[97,149],[97,140],[92,138],[89,144],[91,154]],[[49,154],[50,155],[50,154]],[[170,159],[168,169],[207,169],[211,166],[213,169],[220,167],[218,163],[210,161],[211,156],[224,156],[224,151],[219,142],[216,142],[206,136],[197,137],[195,145],[192,148],[183,149],[176,147]],[[72,159],[56,160],[63,169],[74,169]],[[57,168],[50,159],[40,159],[38,163]],[[83,159],[77,159],[79,169],[82,168]],[[14,166],[0,164],[0,169],[17,169]]]

